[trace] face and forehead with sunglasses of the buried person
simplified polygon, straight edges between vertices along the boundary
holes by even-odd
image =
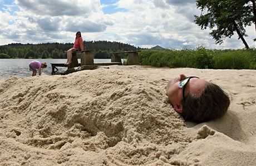
[[[184,74],[181,74],[169,81],[166,86],[166,95],[169,98],[169,102],[174,107],[174,110],[179,113],[183,112],[182,101],[185,100],[184,97],[186,97],[189,92],[193,95],[200,95],[204,90],[206,83],[205,80],[199,79],[198,77],[190,77],[190,79],[186,80],[186,86],[182,86],[182,84],[185,83],[186,78],[187,77]]]

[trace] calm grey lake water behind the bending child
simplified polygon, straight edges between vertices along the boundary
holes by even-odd
[[[66,63],[67,59],[0,59],[0,81],[3,81],[8,76],[27,77],[32,76],[32,71],[29,71],[28,64],[32,60],[46,62],[47,68],[42,69],[44,74],[51,75],[52,64]],[[94,59],[94,63],[110,63],[111,59]],[[78,59],[80,63],[80,59]],[[67,68],[58,67],[60,71],[65,71]],[[38,75],[38,72],[37,72]]]

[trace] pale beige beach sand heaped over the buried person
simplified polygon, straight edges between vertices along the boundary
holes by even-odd
[[[223,87],[228,113],[185,122],[165,85]],[[256,165],[256,71],[109,66],[0,83],[0,165]]]

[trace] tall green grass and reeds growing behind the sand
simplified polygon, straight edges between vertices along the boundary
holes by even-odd
[[[142,50],[140,64],[170,68],[256,69],[256,50]]]

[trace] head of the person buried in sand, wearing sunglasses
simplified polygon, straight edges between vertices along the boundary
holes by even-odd
[[[179,77],[169,81],[166,95],[184,120],[205,122],[219,118],[229,107],[228,95],[218,86],[198,77]]]

